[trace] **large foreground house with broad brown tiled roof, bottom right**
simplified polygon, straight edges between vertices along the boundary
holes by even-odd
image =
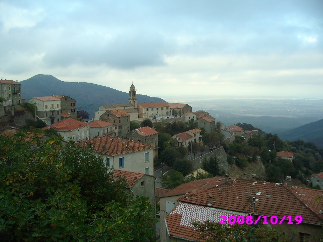
[[[290,182],[290,177],[286,180]],[[319,190],[256,181],[255,175],[252,180],[218,176],[190,181],[160,198],[160,241],[196,241],[193,221],[219,222],[220,216],[250,215],[253,220],[260,216],[260,224],[263,216],[268,221],[291,216],[293,224],[284,219],[271,227],[297,241],[319,241],[323,237],[323,203],[315,198],[320,196]],[[297,225],[296,216],[302,217]]]

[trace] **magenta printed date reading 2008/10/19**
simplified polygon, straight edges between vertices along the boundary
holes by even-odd
[[[220,216],[221,220],[220,223],[221,224],[235,224],[238,223],[240,225],[242,224],[257,224],[260,219],[262,219],[259,223],[262,224],[282,224],[284,222],[284,220],[288,221],[287,224],[294,224],[293,223],[293,217],[292,216],[283,216],[281,219],[279,219],[277,216],[271,216],[271,217],[267,217],[267,216],[258,216],[257,219],[253,219],[253,216]],[[300,224],[303,221],[303,217],[302,216],[295,216],[294,217],[294,221],[296,221],[295,224]]]

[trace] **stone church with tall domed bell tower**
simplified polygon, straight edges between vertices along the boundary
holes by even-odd
[[[138,107],[137,107],[137,90],[132,84],[129,89],[129,102],[128,103],[114,103],[101,105],[98,111],[95,112],[94,120],[100,120],[100,116],[108,110],[124,110],[129,113],[131,121],[137,121],[139,117]]]

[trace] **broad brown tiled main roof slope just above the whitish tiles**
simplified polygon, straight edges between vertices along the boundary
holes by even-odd
[[[211,207],[214,208],[268,217],[277,216],[278,218],[302,216],[302,223],[320,225],[323,222],[322,218],[303,203],[287,186],[238,178],[232,180],[232,184],[224,183],[221,186],[213,186],[201,192],[186,194],[179,201],[206,206],[209,196],[212,196],[216,198],[216,202],[211,204]],[[251,194],[256,199],[255,212],[253,212],[253,202],[249,201]],[[314,197],[309,199],[313,200]]]

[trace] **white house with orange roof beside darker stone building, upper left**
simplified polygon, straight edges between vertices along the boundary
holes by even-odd
[[[37,116],[47,125],[60,122],[61,99],[52,96],[32,97],[28,102],[36,105]]]

